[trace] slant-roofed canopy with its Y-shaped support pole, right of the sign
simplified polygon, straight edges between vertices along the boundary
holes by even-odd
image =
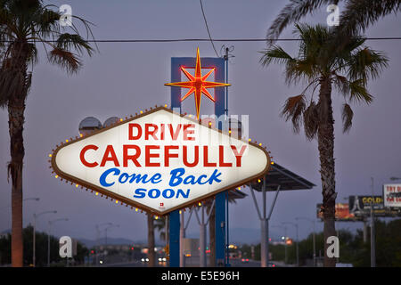
[[[269,172],[257,182],[250,183],[250,193],[252,194],[252,199],[255,203],[255,208],[258,212],[258,218],[260,220],[261,228],[261,241],[260,241],[260,251],[261,251],[261,266],[267,267],[269,264],[269,220],[273,213],[273,208],[279,191],[289,191],[289,190],[306,190],[312,189],[315,184],[307,181],[307,179],[302,178],[299,175],[291,172],[285,167],[282,167],[276,163],[272,165]],[[255,197],[255,191],[262,192],[262,210],[258,207],[258,200]],[[269,213],[266,212],[266,192],[275,191],[274,199],[272,201],[272,206],[270,207]],[[298,244],[297,240],[297,244]]]

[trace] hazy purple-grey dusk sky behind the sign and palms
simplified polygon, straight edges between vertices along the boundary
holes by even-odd
[[[48,3],[48,2],[45,2]],[[80,0],[52,1],[70,4],[72,13],[90,20],[96,39],[160,39],[207,38],[208,33],[196,0]],[[266,29],[282,9],[280,0],[204,0],[209,28],[214,38],[264,38]],[[340,7],[341,8],[341,7]],[[325,24],[325,9],[301,20]],[[368,37],[399,37],[401,20],[394,15],[378,22],[366,32]],[[293,27],[286,28],[282,37],[294,37]],[[271,218],[271,225],[295,222],[296,217],[315,219],[316,204],[322,201],[317,143],[309,142],[304,134],[294,134],[290,122],[279,116],[289,96],[297,95],[303,85],[288,86],[282,67],[260,65],[264,42],[215,43],[217,52],[222,45],[234,46],[229,63],[229,113],[250,116],[250,137],[263,142],[272,152],[274,161],[282,167],[315,183],[312,190],[280,192]],[[297,42],[280,43],[291,54]],[[372,104],[353,105],[354,120],[349,134],[341,132],[340,107],[343,98],[333,92],[335,118],[336,191],[338,202],[349,195],[381,194],[382,184],[390,176],[401,176],[401,41],[368,41],[366,45],[389,57],[389,68],[381,77],[369,83],[374,96]],[[125,118],[156,104],[169,104],[170,58],[194,57],[199,46],[201,56],[216,56],[209,42],[186,43],[99,43],[99,53],[83,57],[84,67],[69,76],[48,63],[45,51],[39,47],[39,62],[33,68],[32,86],[27,100],[24,140],[24,198],[40,198],[24,202],[24,226],[33,223],[33,214],[57,210],[57,214],[38,217],[37,231],[47,231],[49,220],[68,218],[53,225],[56,236],[94,240],[95,225],[119,224],[108,236],[129,240],[146,240],[146,216],[116,206],[110,199],[95,197],[90,191],[80,191],[54,179],[48,168],[48,154],[56,144],[78,135],[78,124],[87,116]],[[184,104],[193,112],[192,102]],[[191,110],[192,108],[192,110]],[[201,112],[211,110],[211,103],[202,101]],[[11,228],[11,184],[7,181],[6,163],[10,160],[8,115],[0,110],[0,232]],[[246,199],[230,206],[230,228],[258,230],[260,223],[249,190]],[[267,194],[270,205],[273,193]],[[338,229],[355,231],[361,223],[337,223]],[[316,230],[323,224],[316,222]],[[307,237],[311,223],[299,222],[299,238]],[[187,232],[196,236],[196,220]],[[255,231],[252,231],[255,232]],[[288,233],[295,235],[294,227]],[[282,229],[273,227],[273,237]],[[232,237],[235,240],[235,236]],[[254,236],[257,242],[259,237]],[[250,238],[252,240],[252,238]]]

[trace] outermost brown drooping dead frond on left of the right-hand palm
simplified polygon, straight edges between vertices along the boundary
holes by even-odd
[[[286,121],[291,119],[292,127],[295,133],[299,133],[299,129],[302,123],[302,115],[307,106],[305,96],[300,94],[298,96],[290,97],[285,102],[282,107],[281,116],[285,118]]]

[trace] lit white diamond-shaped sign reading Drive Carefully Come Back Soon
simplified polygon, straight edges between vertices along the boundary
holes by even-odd
[[[57,175],[158,215],[264,174],[265,149],[165,108],[61,145]]]

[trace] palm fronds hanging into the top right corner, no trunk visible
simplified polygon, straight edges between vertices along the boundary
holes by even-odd
[[[340,35],[356,35],[364,31],[374,22],[390,13],[401,10],[401,0],[343,0],[344,10],[341,12]],[[322,6],[339,4],[340,0],[290,0],[286,4],[272,26],[267,31],[267,39],[273,40],[280,36],[282,30],[293,22]]]

